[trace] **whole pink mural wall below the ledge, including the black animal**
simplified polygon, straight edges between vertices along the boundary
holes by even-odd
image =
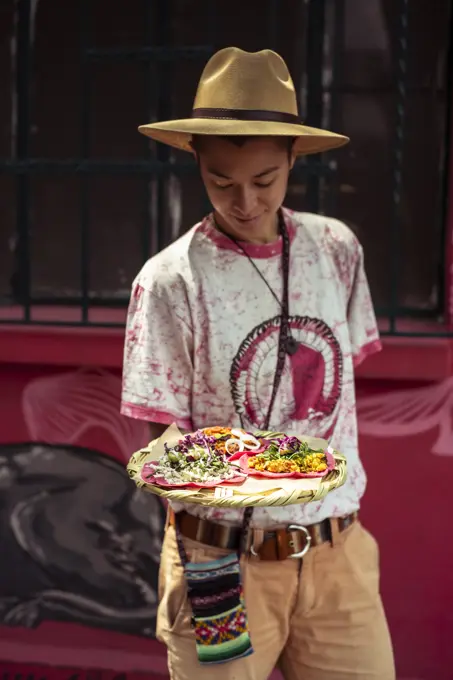
[[[153,639],[164,508],[125,472],[148,440],[147,425],[119,414],[117,372],[8,375],[0,395],[0,540],[9,556],[0,561],[3,672],[20,662],[166,677],[165,652]],[[359,382],[358,410],[369,476],[362,515],[381,546],[398,678],[451,680],[453,555],[444,536],[453,378]]]

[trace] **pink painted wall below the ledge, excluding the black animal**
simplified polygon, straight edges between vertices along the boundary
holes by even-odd
[[[134,447],[143,431],[115,420],[118,381],[118,373],[3,366],[1,439],[52,440],[57,433],[58,439],[124,461],[127,447]],[[60,414],[56,429],[45,414],[51,408]],[[436,384],[362,381],[358,408],[368,473],[362,517],[381,546],[382,592],[398,677],[451,680],[453,553],[446,545],[451,534],[453,379]],[[82,422],[88,416],[90,427]],[[157,642],[65,623],[45,623],[35,630],[3,627],[0,658],[166,676],[165,652]]]

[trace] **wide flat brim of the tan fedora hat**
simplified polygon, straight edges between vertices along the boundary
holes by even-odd
[[[183,151],[193,151],[191,146],[193,135],[295,137],[294,151],[298,156],[336,149],[349,142],[349,137],[344,135],[306,125],[218,118],[187,118],[164,123],[150,123],[140,125],[138,131],[157,142]]]

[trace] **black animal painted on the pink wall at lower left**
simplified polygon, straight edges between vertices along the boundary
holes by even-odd
[[[0,624],[152,637],[163,525],[159,500],[98,451],[0,445]]]

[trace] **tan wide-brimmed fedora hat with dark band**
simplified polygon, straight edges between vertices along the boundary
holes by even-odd
[[[211,57],[198,84],[192,117],[140,125],[147,137],[192,151],[193,135],[295,137],[297,155],[327,151],[349,139],[303,125],[288,67],[271,50],[226,47]]]

